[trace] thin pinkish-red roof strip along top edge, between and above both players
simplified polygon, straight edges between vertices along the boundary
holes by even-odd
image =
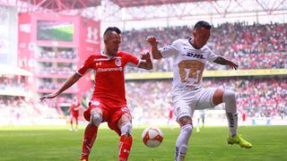
[[[120,7],[135,7],[145,5],[161,5],[161,4],[180,4],[180,3],[192,3],[192,2],[203,2],[211,0],[109,0],[110,2],[117,4]]]

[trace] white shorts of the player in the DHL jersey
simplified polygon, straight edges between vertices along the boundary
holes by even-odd
[[[213,108],[215,90],[215,88],[201,88],[193,91],[181,90],[173,93],[172,106],[174,106],[177,122],[183,116],[192,118],[196,109]]]

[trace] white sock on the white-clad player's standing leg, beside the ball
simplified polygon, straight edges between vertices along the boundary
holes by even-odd
[[[186,124],[181,127],[181,131],[178,135],[178,140],[176,143],[176,154],[175,161],[181,161],[186,157],[188,140],[191,136],[193,126],[191,124]]]

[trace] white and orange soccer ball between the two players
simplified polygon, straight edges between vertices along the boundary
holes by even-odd
[[[163,134],[161,129],[157,127],[148,127],[142,133],[143,144],[150,148],[155,148],[161,145]]]

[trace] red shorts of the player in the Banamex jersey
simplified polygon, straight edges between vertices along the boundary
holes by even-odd
[[[128,107],[126,106],[112,107],[107,106],[107,104],[100,101],[100,99],[91,100],[91,102],[89,103],[89,107],[83,112],[83,117],[86,121],[90,122],[91,109],[96,107],[102,110],[102,123],[107,122],[109,125],[109,129],[116,131],[117,134],[120,136],[121,131],[117,127],[117,121],[123,114],[131,115]]]

